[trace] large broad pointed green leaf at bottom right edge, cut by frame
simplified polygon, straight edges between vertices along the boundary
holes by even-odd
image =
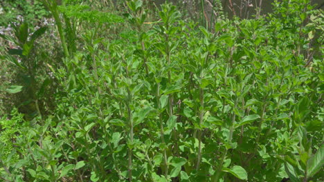
[[[314,176],[321,170],[324,164],[324,145],[318,148],[317,152],[307,161],[307,174],[309,177]]]

